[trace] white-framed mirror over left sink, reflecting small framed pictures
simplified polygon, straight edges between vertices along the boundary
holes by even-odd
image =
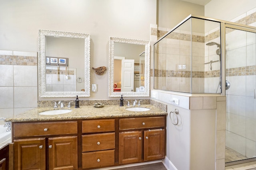
[[[90,96],[90,34],[39,29],[40,98]]]

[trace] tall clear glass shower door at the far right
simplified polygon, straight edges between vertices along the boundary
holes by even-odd
[[[256,157],[256,33],[226,28],[225,162]]]

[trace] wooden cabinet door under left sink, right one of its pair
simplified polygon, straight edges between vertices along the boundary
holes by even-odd
[[[49,170],[77,170],[77,136],[48,139]]]

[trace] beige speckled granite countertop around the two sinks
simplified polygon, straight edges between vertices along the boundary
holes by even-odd
[[[37,107],[15,115],[14,117],[6,118],[6,121],[24,122],[24,121],[54,121],[54,120],[74,120],[74,119],[98,119],[111,117],[139,117],[139,116],[155,116],[167,115],[166,111],[162,111],[152,105],[141,105],[140,107],[150,108],[149,111],[127,111],[128,106],[105,105],[104,107],[80,106],[79,108],[69,108],[72,111],[60,115],[40,115],[42,111],[49,111],[60,108],[53,107]],[[132,106],[129,106],[132,107]],[[138,107],[138,106],[136,106]],[[68,109],[64,107],[63,109]]]

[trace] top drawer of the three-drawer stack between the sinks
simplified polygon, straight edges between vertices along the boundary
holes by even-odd
[[[115,131],[115,119],[82,121],[82,133]]]

